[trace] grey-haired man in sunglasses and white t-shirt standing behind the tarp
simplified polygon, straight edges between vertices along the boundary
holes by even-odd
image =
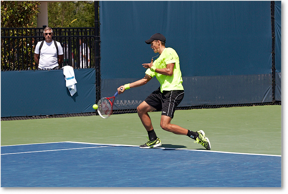
[[[52,28],[44,28],[43,36],[45,41],[37,43],[34,52],[34,59],[38,64],[38,70],[59,69],[59,64],[63,62],[63,49],[59,42],[53,41]]]

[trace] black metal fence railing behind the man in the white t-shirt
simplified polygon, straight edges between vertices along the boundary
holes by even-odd
[[[94,41],[99,37],[95,28],[52,28],[52,39],[61,43],[65,65],[74,68],[95,68],[100,51]],[[95,38],[96,37],[96,38]],[[34,51],[37,42],[45,40],[43,28],[1,28],[1,71],[35,70]],[[89,55],[80,55],[89,53]]]

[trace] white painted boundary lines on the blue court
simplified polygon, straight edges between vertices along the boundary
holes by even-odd
[[[55,149],[55,150],[44,150],[44,151],[60,151],[60,150],[70,150],[70,149],[86,149],[86,148],[113,147],[113,146],[139,147],[139,145],[86,143],[86,142],[75,142],[75,141],[62,141],[62,142],[49,142],[49,143],[81,143],[81,144],[105,145],[105,146],[69,148],[69,149]],[[48,143],[31,143],[31,144],[19,144],[19,145],[34,145],[34,144],[48,144]],[[107,146],[106,146],[106,145],[107,145]],[[1,147],[5,147],[5,146],[17,146],[17,145],[2,145]],[[277,156],[277,157],[281,157],[281,155],[257,154],[257,153],[238,153],[238,152],[226,152],[226,151],[183,149],[183,148],[165,148],[165,147],[156,147],[156,148],[158,148],[158,149],[175,149],[175,150],[187,150],[187,151],[205,151],[205,152],[215,152],[215,153],[231,153],[231,154],[243,154],[243,155],[264,155],[264,156]],[[18,152],[18,153],[33,153],[33,152],[44,152],[44,151],[30,151],[30,152]],[[7,155],[7,154],[17,154],[17,153],[3,153],[3,154],[1,154],[1,155]]]

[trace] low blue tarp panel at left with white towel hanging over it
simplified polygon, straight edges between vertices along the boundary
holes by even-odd
[[[71,96],[63,70],[1,72],[1,117],[95,111],[95,69],[75,69],[77,92]]]

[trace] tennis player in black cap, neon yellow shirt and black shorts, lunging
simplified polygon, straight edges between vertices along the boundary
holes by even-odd
[[[160,139],[156,136],[151,119],[148,115],[148,112],[150,111],[162,110],[160,121],[160,126],[162,129],[178,135],[187,135],[188,137],[196,140],[194,143],[199,143],[206,149],[210,150],[210,141],[207,137],[205,137],[203,130],[193,132],[170,123],[174,116],[176,107],[184,97],[182,74],[180,71],[179,57],[176,51],[172,48],[165,47],[166,38],[160,33],[153,34],[150,39],[145,42],[147,44],[151,44],[151,48],[153,49],[154,53],[159,53],[160,56],[155,61],[153,61],[152,58],[150,63],[142,64],[142,66],[147,69],[144,78],[120,86],[117,89],[118,93],[121,94],[127,89],[146,84],[154,76],[156,76],[160,82],[161,86],[151,93],[145,99],[145,101],[143,101],[137,107],[137,113],[145,129],[147,130],[149,137],[149,140],[144,145],[140,145],[139,147],[154,148],[162,145]]]

